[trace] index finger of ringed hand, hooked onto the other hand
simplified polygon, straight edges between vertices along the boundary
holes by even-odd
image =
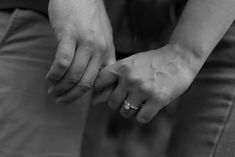
[[[115,64],[103,68],[95,82],[95,88],[102,90],[118,80],[118,75],[115,71]]]

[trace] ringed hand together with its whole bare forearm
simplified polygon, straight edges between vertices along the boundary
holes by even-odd
[[[148,123],[191,85],[235,19],[234,0],[189,0],[169,43],[120,60],[99,73],[93,101]],[[139,110],[126,110],[124,100]]]

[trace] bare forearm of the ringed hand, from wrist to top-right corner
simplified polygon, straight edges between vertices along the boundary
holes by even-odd
[[[235,0],[189,0],[170,43],[198,71],[234,19]]]

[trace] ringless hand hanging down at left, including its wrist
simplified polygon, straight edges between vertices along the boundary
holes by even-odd
[[[67,104],[92,86],[99,69],[115,61],[112,29],[102,0],[50,0],[49,18],[58,39],[47,74],[49,93]]]

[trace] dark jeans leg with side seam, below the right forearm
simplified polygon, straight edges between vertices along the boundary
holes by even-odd
[[[232,27],[182,96],[169,157],[235,156],[233,32]]]

